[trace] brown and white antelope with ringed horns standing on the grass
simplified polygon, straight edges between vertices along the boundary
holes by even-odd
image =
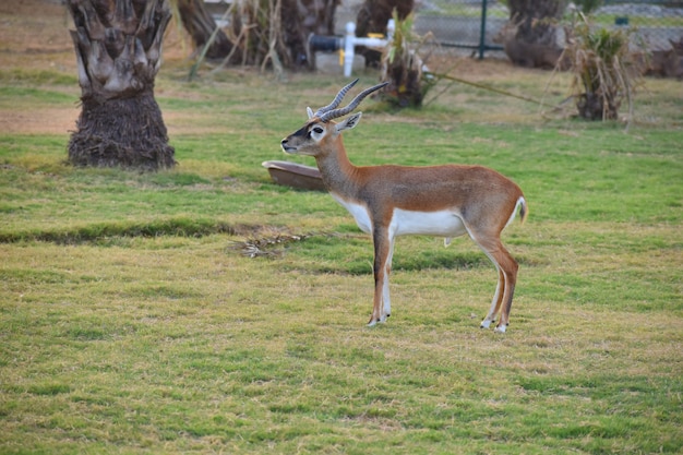
[[[404,235],[430,235],[445,238],[468,234],[498,270],[498,287],[489,314],[481,322],[488,328],[501,316],[496,332],[508,324],[517,262],[501,243],[501,231],[517,209],[522,220],[527,205],[522,190],[499,172],[481,166],[368,166],[349,161],[342,143],[342,132],[358,124],[361,112],[339,122],[379,84],[361,92],[344,108],[342,98],[356,84],[339,91],[334,100],[313,112],[308,122],[281,141],[285,153],[315,158],[323,182],[332,196],[356,218],[358,227],[372,235],[374,243],[374,301],[368,325],[385,322],[391,315],[388,275],[394,239]]]

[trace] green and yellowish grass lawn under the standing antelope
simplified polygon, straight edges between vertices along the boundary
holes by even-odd
[[[648,80],[628,132],[460,85],[421,111],[364,101],[356,164],[481,164],[525,191],[500,335],[466,238],[399,238],[391,321],[366,327],[370,239],[261,167],[313,164],[279,141],[346,81],[166,68],[173,170],[74,169],[67,131],[0,133],[0,453],[683,451],[680,82]],[[492,68],[534,97],[549,79]],[[0,110],[77,109],[75,76],[0,82]]]

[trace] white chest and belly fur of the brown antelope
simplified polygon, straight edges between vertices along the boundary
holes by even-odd
[[[332,195],[354,216],[360,230],[372,232],[370,214],[364,205],[345,201],[334,193]],[[412,212],[400,208],[394,209],[390,230],[394,236],[458,237],[467,232],[460,217],[452,211]]]

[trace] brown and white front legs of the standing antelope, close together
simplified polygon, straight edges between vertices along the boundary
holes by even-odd
[[[391,315],[392,304],[388,292],[388,275],[392,267],[393,239],[384,229],[374,229],[372,234],[374,244],[374,297],[372,302],[372,315],[368,326],[373,326],[378,322],[386,322]]]

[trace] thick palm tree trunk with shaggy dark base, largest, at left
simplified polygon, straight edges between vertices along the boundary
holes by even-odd
[[[67,0],[82,110],[69,142],[74,166],[169,168],[175,149],[154,98],[167,0]]]

